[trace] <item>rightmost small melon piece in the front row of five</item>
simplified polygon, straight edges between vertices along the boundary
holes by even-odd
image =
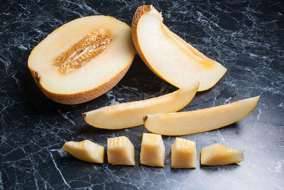
[[[218,166],[234,164],[244,161],[244,150],[224,147],[222,144],[212,144],[201,150],[200,162],[202,165]]]

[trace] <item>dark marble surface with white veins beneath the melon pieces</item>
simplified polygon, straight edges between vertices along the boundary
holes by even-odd
[[[228,68],[214,88],[197,93],[183,110],[197,110],[261,95],[243,120],[212,132],[183,136],[200,150],[222,143],[244,149],[245,161],[224,167],[170,169],[139,165],[145,127],[99,130],[82,112],[142,100],[175,88],[136,56],[121,82],[82,105],[60,105],[40,92],[27,68],[31,50],[63,23],[82,16],[111,15],[131,24],[137,6],[153,4],[167,26]],[[0,189],[283,189],[284,187],[284,3],[283,1],[1,1],[0,4]],[[62,152],[67,141],[126,135],[136,167],[89,164]]]

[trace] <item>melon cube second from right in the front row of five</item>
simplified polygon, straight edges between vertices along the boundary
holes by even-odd
[[[171,167],[196,168],[196,143],[182,138],[176,138],[171,150]]]

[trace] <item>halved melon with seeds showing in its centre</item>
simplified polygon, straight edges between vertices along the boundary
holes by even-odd
[[[66,23],[41,41],[28,58],[28,68],[47,97],[77,104],[113,88],[135,52],[126,23],[111,16],[87,16]]]

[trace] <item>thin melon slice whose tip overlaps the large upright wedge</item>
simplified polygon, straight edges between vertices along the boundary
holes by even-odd
[[[143,125],[143,117],[158,112],[176,112],[185,107],[198,89],[198,83],[168,95],[148,100],[126,102],[85,112],[84,120],[94,127],[117,130]]]

